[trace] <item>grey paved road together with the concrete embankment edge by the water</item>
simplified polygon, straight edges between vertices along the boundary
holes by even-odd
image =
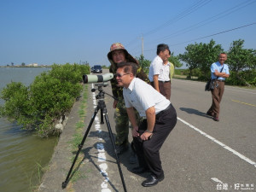
[[[106,72],[104,72],[106,73]],[[109,82],[108,82],[109,84]],[[95,84],[88,84],[84,131],[98,104]],[[206,115],[211,106],[211,93],[205,83],[173,79],[171,102],[177,110],[177,125],[160,149],[165,179],[154,187],[141,183],[148,173],[130,172],[137,165],[129,164],[131,149],[119,155],[120,168],[113,153],[108,126],[98,112],[79,154],[66,189],[61,183],[73,162],[77,149],[71,148],[75,127],[79,122],[81,101],[73,106],[69,119],[38,191],[76,192],[216,192],[256,190],[256,90],[225,86],[220,121]],[[97,88],[97,87],[96,87]],[[111,94],[111,86],[103,87]],[[105,94],[110,129],[115,137],[113,98]],[[131,132],[130,132],[131,142]],[[120,174],[125,183],[121,181]]]

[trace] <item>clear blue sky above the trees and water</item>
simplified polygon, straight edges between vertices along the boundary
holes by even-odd
[[[213,39],[256,49],[256,0],[1,0],[0,66],[88,62],[109,66],[110,45],[152,61],[157,44],[174,55]]]

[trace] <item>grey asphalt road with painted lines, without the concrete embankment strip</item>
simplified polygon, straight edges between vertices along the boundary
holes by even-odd
[[[220,121],[215,122],[206,115],[212,99],[204,86],[201,82],[173,79],[171,102],[178,120],[160,150],[166,178],[154,187],[144,188],[141,183],[148,175],[129,171],[136,165],[129,164],[130,152],[126,152],[119,160],[127,191],[256,190],[256,90],[225,86]],[[111,93],[110,85],[103,90]],[[94,97],[91,95],[91,100],[96,105]],[[115,136],[113,99],[105,95],[105,102]],[[99,134],[93,135],[99,139],[94,141],[97,151],[90,150],[87,155],[94,165],[91,172],[100,177],[91,191],[124,191],[107,125],[100,125],[97,116],[92,126]],[[88,182],[81,182],[80,187],[88,186]]]

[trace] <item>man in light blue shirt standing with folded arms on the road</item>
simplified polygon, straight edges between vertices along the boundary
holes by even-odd
[[[227,55],[221,53],[218,55],[218,61],[212,63],[211,73],[212,79],[214,80],[214,89],[211,90],[212,93],[212,106],[208,109],[207,115],[213,117],[213,120],[219,121],[219,109],[222,96],[224,94],[224,81],[226,78],[230,77],[229,67],[224,64],[227,60]]]

